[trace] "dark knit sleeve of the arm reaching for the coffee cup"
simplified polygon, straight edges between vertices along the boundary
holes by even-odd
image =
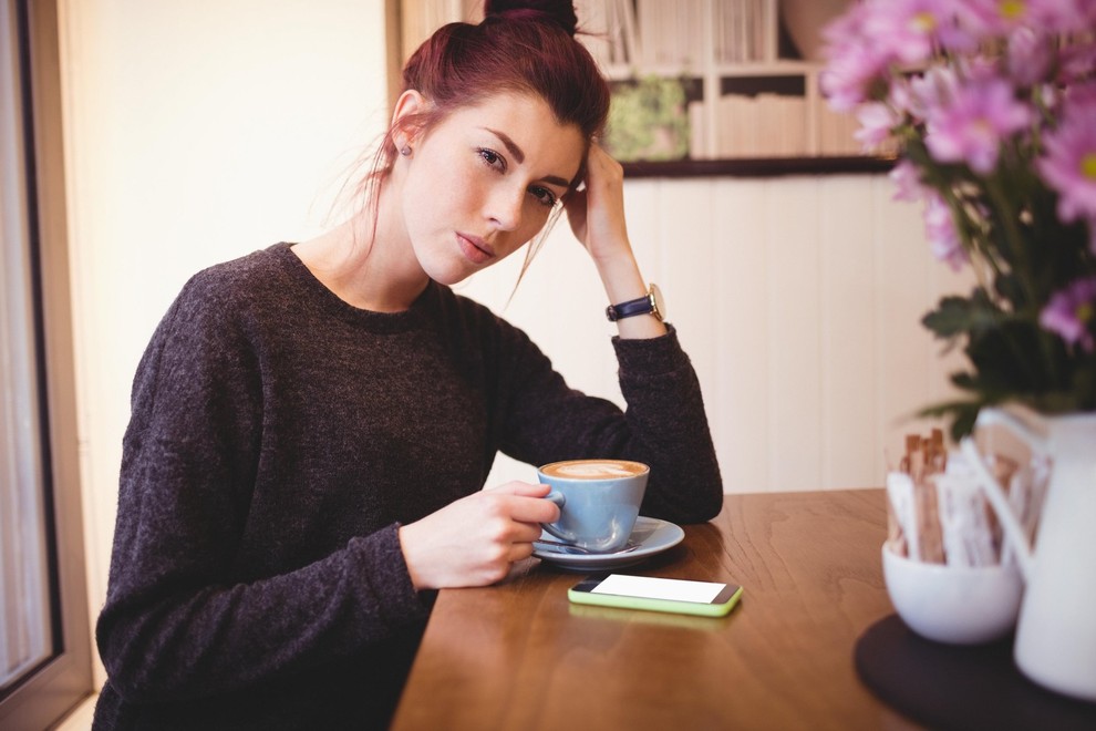
[[[200,276],[137,370],[97,641],[114,688],[149,702],[227,693],[368,652],[424,621],[396,526],[241,579],[262,424],[260,354]],[[292,509],[287,506],[287,509]],[[271,536],[277,540],[277,536]]]

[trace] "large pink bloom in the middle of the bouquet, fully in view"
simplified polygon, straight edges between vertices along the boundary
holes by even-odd
[[[1001,79],[960,85],[955,95],[930,109],[924,144],[941,163],[965,162],[989,174],[997,164],[1003,137],[1032,123],[1034,114]]]

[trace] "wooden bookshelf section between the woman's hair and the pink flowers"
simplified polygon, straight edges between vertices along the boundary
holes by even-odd
[[[580,19],[604,29],[590,50],[613,82],[610,152],[717,169],[725,161],[755,169],[745,161],[860,157],[859,125],[828,107],[818,82],[817,31],[841,1],[578,0]]]

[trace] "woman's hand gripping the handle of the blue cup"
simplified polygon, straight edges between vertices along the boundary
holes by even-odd
[[[510,482],[463,497],[400,527],[400,545],[416,589],[486,586],[533,555],[540,524],[559,519],[542,500],[547,485]]]

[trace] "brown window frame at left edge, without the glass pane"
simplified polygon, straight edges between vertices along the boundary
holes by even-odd
[[[93,692],[84,562],[56,0],[12,0],[19,37],[28,230],[37,294],[53,653],[0,700],[0,727],[55,724]],[[8,11],[8,8],[4,8]],[[30,109],[25,109],[29,105]],[[17,163],[18,164],[18,163]]]

